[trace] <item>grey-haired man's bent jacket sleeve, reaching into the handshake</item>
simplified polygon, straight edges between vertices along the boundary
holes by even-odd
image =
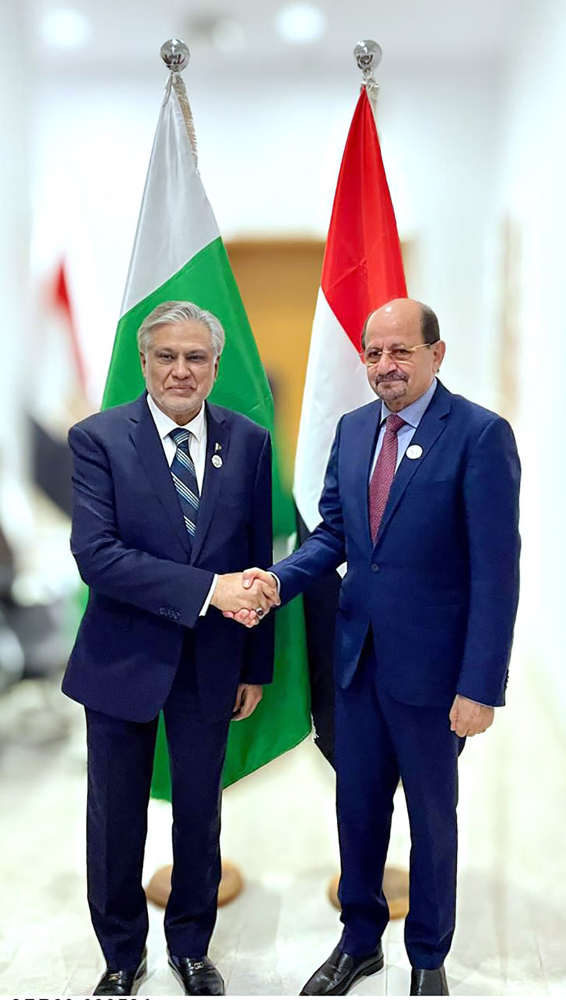
[[[92,590],[194,628],[214,574],[141,549],[128,548],[117,524],[114,484],[105,448],[72,427],[71,551]]]

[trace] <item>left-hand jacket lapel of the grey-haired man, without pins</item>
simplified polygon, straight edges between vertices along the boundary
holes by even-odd
[[[140,464],[147,472],[159,501],[171,521],[175,533],[187,556],[191,554],[191,541],[185,528],[179,497],[171,478],[163,445],[151,415],[145,393],[137,400],[139,406],[130,417],[130,436],[138,453]]]

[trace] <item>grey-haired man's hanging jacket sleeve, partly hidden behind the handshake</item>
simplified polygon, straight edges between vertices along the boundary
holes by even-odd
[[[269,566],[273,558],[271,461],[271,439],[266,432],[254,483],[250,566]],[[247,633],[242,683],[270,684],[273,680],[274,655],[275,619],[273,613],[270,613],[264,622]]]

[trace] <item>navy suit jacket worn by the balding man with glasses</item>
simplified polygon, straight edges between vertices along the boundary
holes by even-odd
[[[439,382],[395,474],[375,544],[368,481],[381,402],[338,424],[320,501],[322,523],[273,567],[285,603],[347,560],[335,639],[347,687],[371,626],[393,697],[449,706],[456,692],[502,705],[519,593],[520,465],[495,413]]]

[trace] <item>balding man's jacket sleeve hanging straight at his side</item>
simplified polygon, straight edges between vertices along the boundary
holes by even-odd
[[[519,600],[519,484],[513,431],[497,418],[481,433],[464,476],[470,605],[456,690],[484,705],[505,704]]]

